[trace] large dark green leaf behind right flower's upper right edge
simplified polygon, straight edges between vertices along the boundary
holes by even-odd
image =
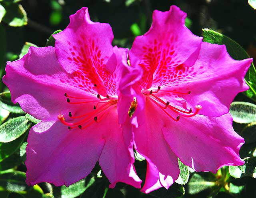
[[[204,41],[208,43],[225,44],[228,54],[235,60],[250,58],[247,52],[234,40],[210,29],[203,29]],[[245,76],[246,83],[250,87],[245,94],[256,101],[256,69],[252,63]]]

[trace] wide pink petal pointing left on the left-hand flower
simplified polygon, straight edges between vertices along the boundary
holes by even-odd
[[[25,112],[40,120],[58,120],[59,114],[68,117],[69,111],[75,113],[81,108],[69,104],[65,92],[97,100],[90,92],[73,86],[75,82],[58,63],[54,47],[30,47],[22,59],[8,62],[3,82],[12,93],[12,102],[18,102]]]

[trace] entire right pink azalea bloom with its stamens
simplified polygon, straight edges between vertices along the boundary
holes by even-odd
[[[224,45],[202,42],[185,27],[185,17],[176,6],[155,10],[150,30],[136,37],[129,52],[131,66],[143,70],[130,97],[137,105],[134,144],[147,160],[146,193],[174,183],[178,158],[214,173],[244,164],[244,139],[232,128],[229,106],[248,89],[244,75],[252,59],[233,60]]]

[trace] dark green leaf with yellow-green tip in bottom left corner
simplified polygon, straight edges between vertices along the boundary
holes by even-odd
[[[38,185],[28,186],[25,180],[25,173],[20,171],[0,174],[0,187],[8,192],[21,194],[25,198],[42,198],[42,189]]]

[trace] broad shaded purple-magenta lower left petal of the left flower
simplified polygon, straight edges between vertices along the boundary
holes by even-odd
[[[68,130],[58,121],[36,124],[28,135],[26,183],[69,186],[77,182],[94,168],[104,142],[95,129]]]

